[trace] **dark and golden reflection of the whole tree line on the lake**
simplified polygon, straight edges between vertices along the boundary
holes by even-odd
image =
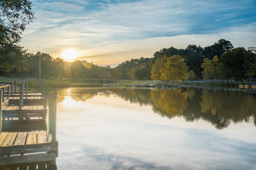
[[[182,116],[186,121],[206,120],[215,128],[227,128],[231,122],[254,122],[256,125],[255,94],[241,91],[209,89],[63,89],[58,102],[65,96],[75,101],[87,101],[94,96],[110,95],[140,106],[151,106],[155,113],[167,118]],[[71,103],[69,103],[71,104]]]

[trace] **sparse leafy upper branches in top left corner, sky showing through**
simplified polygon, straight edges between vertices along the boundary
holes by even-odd
[[[31,12],[31,1],[1,0],[0,1],[0,42],[16,43],[26,25],[35,17]]]

